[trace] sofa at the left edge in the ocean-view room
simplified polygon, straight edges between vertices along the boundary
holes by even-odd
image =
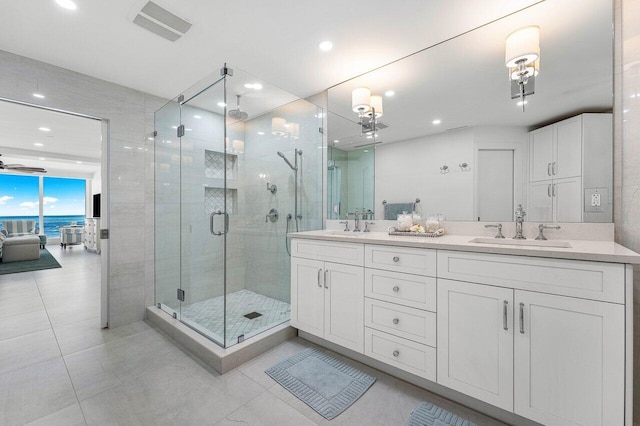
[[[40,238],[35,233],[35,220],[3,220],[0,230],[2,262],[40,259]]]

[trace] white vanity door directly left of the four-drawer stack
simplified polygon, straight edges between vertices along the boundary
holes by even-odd
[[[364,269],[325,262],[324,338],[364,351]]]

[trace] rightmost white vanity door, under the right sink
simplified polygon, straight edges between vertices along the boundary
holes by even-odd
[[[624,306],[516,290],[515,307],[515,412],[545,425],[622,426]]]

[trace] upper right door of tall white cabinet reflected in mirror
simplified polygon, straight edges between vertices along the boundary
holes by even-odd
[[[582,175],[582,116],[554,125],[555,158],[551,165],[554,179]]]

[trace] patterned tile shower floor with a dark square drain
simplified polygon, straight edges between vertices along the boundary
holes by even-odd
[[[253,319],[247,314],[258,313]],[[238,343],[238,336],[245,339],[255,336],[269,328],[289,321],[291,305],[281,300],[240,290],[227,294],[227,341],[226,347]],[[205,334],[210,334],[218,342],[224,336],[224,296],[195,302],[181,309],[183,321],[187,321]]]

